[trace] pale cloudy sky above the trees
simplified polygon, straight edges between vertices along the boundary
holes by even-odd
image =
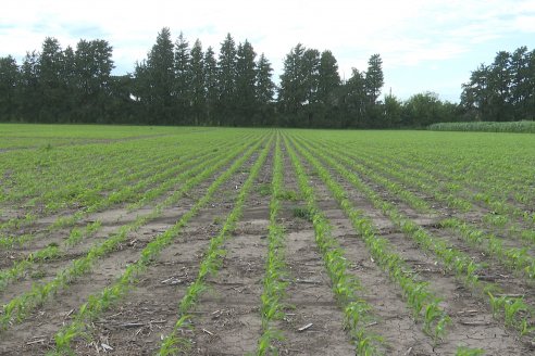
[[[18,63],[45,38],[63,48],[79,39],[105,39],[113,47],[114,74],[134,72],[158,33],[182,31],[219,52],[226,34],[265,53],[274,81],[297,43],[331,50],[340,77],[365,71],[381,54],[383,93],[401,100],[433,91],[459,102],[461,85],[498,51],[535,49],[535,0],[16,0],[0,11],[0,56]]]

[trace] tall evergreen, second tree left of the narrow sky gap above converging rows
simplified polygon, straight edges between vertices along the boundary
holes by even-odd
[[[257,53],[249,41],[239,43],[236,53],[236,122],[237,126],[252,126],[256,113]]]

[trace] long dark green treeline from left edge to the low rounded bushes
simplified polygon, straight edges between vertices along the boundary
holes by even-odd
[[[381,97],[383,62],[343,80],[328,50],[297,44],[284,60],[278,86],[271,62],[249,41],[227,35],[219,53],[163,28],[135,71],[112,75],[112,47],[80,40],[61,48],[47,38],[21,65],[0,59],[0,120],[145,125],[424,127],[456,122],[460,107],[432,92],[401,102]]]

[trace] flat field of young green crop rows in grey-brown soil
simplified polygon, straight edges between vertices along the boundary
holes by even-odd
[[[535,354],[535,136],[0,125],[0,355]]]

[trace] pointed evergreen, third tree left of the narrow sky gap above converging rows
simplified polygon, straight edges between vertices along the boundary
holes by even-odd
[[[217,115],[222,125],[236,124],[236,44],[231,34],[221,43],[217,61]]]

